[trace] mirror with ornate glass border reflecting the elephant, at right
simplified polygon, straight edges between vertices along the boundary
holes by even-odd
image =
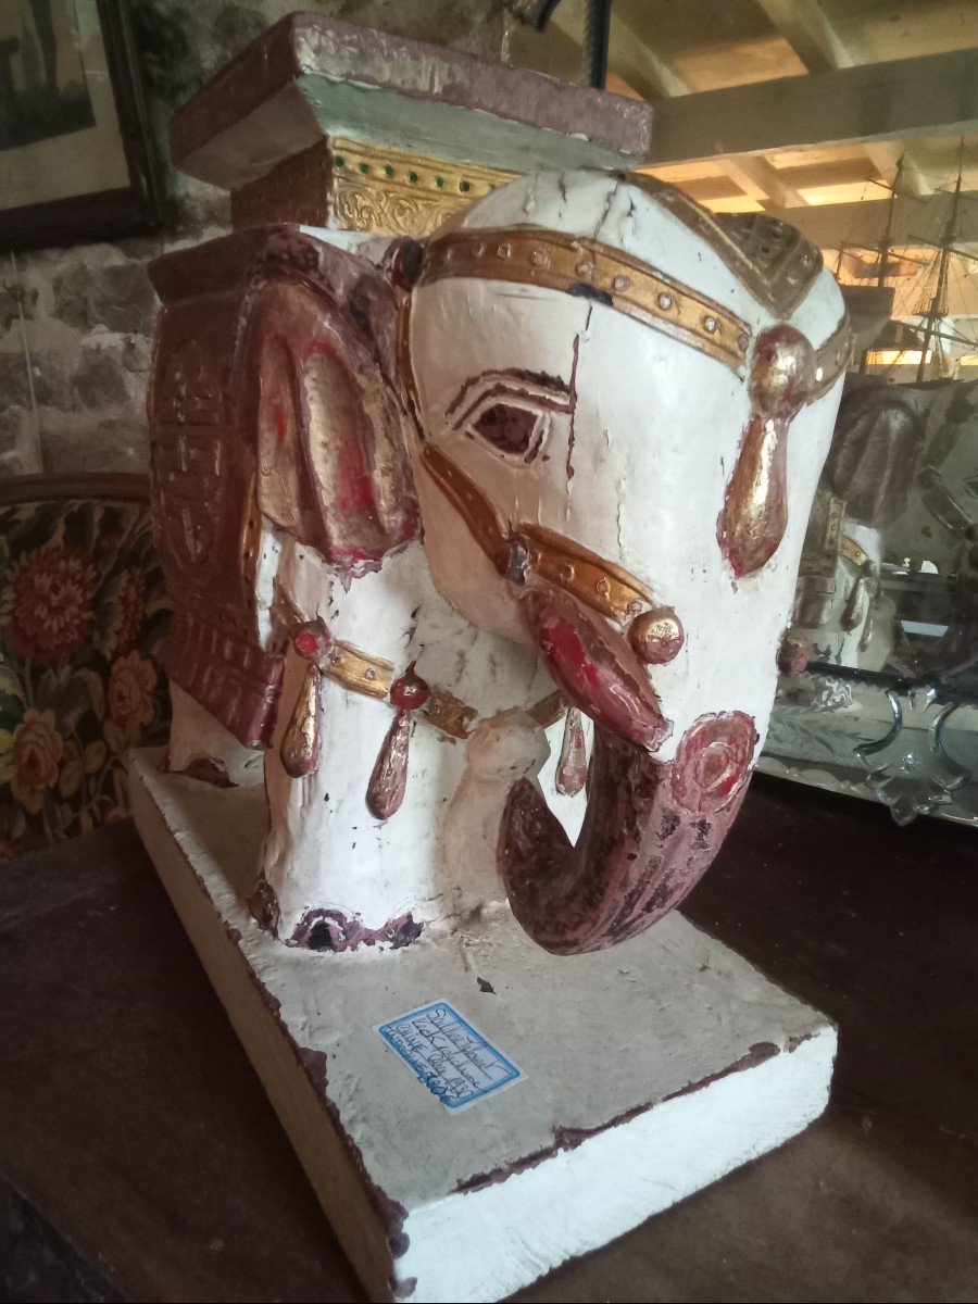
[[[978,827],[978,379],[849,377],[792,636],[759,768]]]

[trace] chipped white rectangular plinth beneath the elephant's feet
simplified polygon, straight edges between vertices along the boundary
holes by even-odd
[[[158,762],[133,756],[140,833],[373,1299],[502,1299],[824,1108],[828,1021],[677,914],[572,958],[506,910],[400,951],[286,948],[244,905],[262,788]],[[446,1110],[376,1031],[432,1000],[526,1080]]]

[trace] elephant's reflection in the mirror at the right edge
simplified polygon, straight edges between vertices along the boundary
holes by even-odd
[[[802,552],[795,622],[820,661],[951,673],[978,649],[978,381],[862,385],[842,399]],[[911,639],[882,580],[939,591]],[[934,601],[932,604],[934,605]],[[914,612],[902,610],[913,617]]]

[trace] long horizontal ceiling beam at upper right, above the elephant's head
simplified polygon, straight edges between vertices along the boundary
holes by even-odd
[[[782,77],[656,103],[649,163],[978,132],[978,50]]]

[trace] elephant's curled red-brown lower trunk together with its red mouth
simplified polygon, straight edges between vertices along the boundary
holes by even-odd
[[[743,712],[704,715],[672,760],[656,759],[669,725],[618,660],[623,640],[549,595],[527,614],[565,695],[595,720],[595,746],[576,844],[520,780],[503,814],[501,871],[533,941],[557,955],[600,951],[643,932],[698,883],[743,799],[758,734]]]

